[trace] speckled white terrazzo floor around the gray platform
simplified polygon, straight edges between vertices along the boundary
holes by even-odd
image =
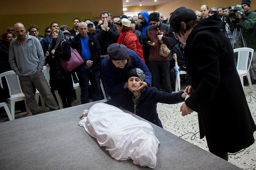
[[[181,90],[185,89],[185,85],[181,85]],[[246,100],[248,102],[249,108],[252,113],[254,122],[256,122],[256,85],[253,85],[254,93],[250,92],[249,86],[244,86],[244,93]],[[253,98],[254,97],[254,98]],[[72,106],[80,105],[81,102],[72,102]],[[188,116],[181,116],[180,106],[182,103],[175,105],[168,104],[157,104],[157,112],[159,118],[162,121],[163,127],[165,130],[175,134],[176,136],[183,138],[184,140],[206,150],[209,152],[206,139],[199,138],[199,129],[198,129],[198,119],[196,112]],[[42,110],[42,113],[49,112],[49,108]],[[15,113],[15,119],[22,117],[31,116],[26,112]],[[0,114],[0,123],[9,121],[6,113]],[[189,133],[192,132],[192,133]],[[189,133],[189,134],[187,134]],[[196,135],[193,135],[196,133]],[[186,135],[185,135],[186,134]],[[254,133],[254,138],[256,139],[256,132]],[[237,153],[235,155],[229,155],[228,162],[246,170],[255,170],[256,169],[256,144],[252,144],[250,147],[246,148],[243,152]]]

